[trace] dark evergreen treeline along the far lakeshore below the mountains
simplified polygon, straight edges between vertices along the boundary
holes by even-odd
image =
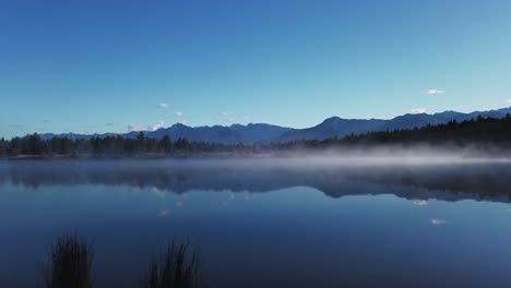
[[[511,116],[504,118],[477,117],[466,121],[449,121],[444,124],[425,125],[415,129],[368,132],[341,139],[297,140],[263,145],[216,144],[190,142],[187,139],[173,141],[169,135],[161,140],[147,137],[140,132],[136,137],[106,136],[87,140],[72,140],[55,136],[44,140],[31,134],[12,140],[0,140],[0,157],[16,156],[140,156],[140,155],[189,155],[213,153],[265,153],[295,148],[354,147],[373,145],[491,145],[511,149]]]

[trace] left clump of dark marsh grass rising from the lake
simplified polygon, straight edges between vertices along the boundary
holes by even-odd
[[[57,238],[44,266],[47,288],[92,288],[93,243],[78,232]]]

